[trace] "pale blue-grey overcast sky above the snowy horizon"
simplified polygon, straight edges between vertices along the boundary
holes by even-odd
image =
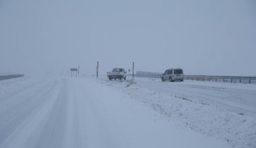
[[[0,72],[256,75],[256,1],[0,0]]]

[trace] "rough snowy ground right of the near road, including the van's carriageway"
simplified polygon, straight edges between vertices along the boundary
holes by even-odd
[[[138,77],[125,83],[104,77],[100,81],[129,94],[181,128],[216,137],[233,147],[256,147],[255,84],[170,83]]]

